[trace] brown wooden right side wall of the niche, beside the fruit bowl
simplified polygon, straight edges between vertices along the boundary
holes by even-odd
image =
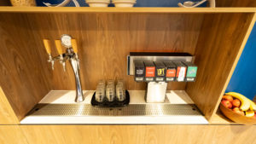
[[[253,14],[205,16],[195,51],[197,80],[186,91],[208,120],[218,108],[253,24]]]

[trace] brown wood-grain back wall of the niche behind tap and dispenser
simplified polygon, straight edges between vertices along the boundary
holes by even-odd
[[[127,89],[146,89],[127,76],[126,56],[131,51],[195,52],[203,14],[27,14],[41,61],[46,61],[43,38],[52,41],[70,34],[79,43],[83,89],[96,89],[100,79],[123,78]],[[71,66],[59,63],[55,71],[43,62],[53,89],[75,89]],[[169,89],[184,89],[170,83]]]

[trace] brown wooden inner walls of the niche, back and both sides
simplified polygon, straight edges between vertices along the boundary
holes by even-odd
[[[19,119],[52,89],[75,89],[72,68],[52,71],[43,38],[70,34],[79,44],[83,89],[100,79],[122,78],[126,89],[146,89],[126,74],[130,52],[186,52],[199,66],[195,83],[168,84],[186,90],[206,118],[218,107],[240,56],[253,13],[1,13],[0,85]]]

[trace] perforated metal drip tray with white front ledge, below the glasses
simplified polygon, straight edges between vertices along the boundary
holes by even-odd
[[[194,104],[38,104],[20,124],[208,124]]]

